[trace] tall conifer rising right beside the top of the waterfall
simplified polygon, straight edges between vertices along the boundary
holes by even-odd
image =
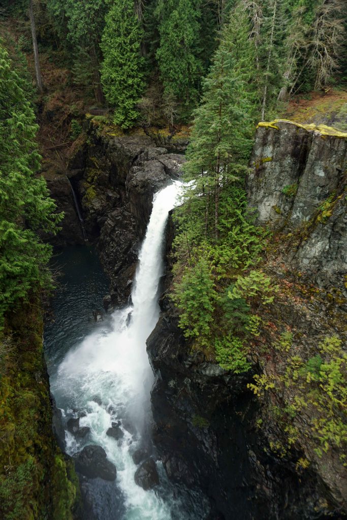
[[[185,172],[194,179],[188,196],[204,199],[205,225],[208,204],[214,204],[214,234],[219,237],[221,189],[245,172],[252,144],[256,94],[252,87],[254,43],[242,6],[236,7],[221,34],[220,46],[203,86],[200,107],[187,150]]]

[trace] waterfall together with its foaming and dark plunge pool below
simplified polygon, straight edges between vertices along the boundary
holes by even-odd
[[[92,319],[108,291],[95,251],[88,246],[66,248],[56,257],[62,271],[60,288],[45,326],[45,355],[50,389],[61,410],[66,452],[75,456],[85,446],[101,446],[117,467],[117,478],[81,476],[85,520],[202,520],[208,501],[197,490],[171,484],[157,461],[160,484],[145,491],[137,486],[132,455],[152,452],[150,440],[150,369],[146,339],[159,317],[158,286],[163,273],[163,237],[168,212],[179,183],[155,196],[146,237],[139,254],[132,305]],[[74,435],[69,419],[79,418],[87,433]],[[117,424],[118,439],[107,435]],[[71,429],[71,428],[70,428]]]

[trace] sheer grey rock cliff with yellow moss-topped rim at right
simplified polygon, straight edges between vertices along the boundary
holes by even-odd
[[[324,125],[260,123],[247,179],[260,224],[291,232],[291,269],[347,297],[347,134]],[[294,235],[294,236],[293,236]]]

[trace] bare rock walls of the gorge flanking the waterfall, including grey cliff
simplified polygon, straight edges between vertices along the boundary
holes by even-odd
[[[152,195],[180,175],[186,144],[186,138],[143,131],[117,135],[97,118],[87,118],[68,171],[47,177],[66,215],[57,243],[83,243],[81,224],[88,239],[97,242],[110,277],[108,309],[130,296]],[[305,413],[291,420],[307,435],[295,440],[293,450],[281,449],[286,433],[273,407],[293,399],[294,390],[259,399],[248,387],[255,372],[274,378],[280,372],[282,360],[272,345],[284,330],[291,330],[289,348],[297,354],[313,352],[328,335],[338,333],[345,340],[346,160],[346,137],[326,128],[278,121],[257,129],[247,179],[249,204],[259,222],[273,230],[263,265],[280,289],[274,304],[260,308],[266,323],[251,345],[253,373],[224,371],[191,350],[178,328],[168,296],[175,232],[169,219],[162,312],[147,342],[156,374],[152,437],[169,478],[209,497],[211,520],[323,520],[347,512],[341,449],[318,456],[307,437]],[[298,464],[303,456],[308,466]]]

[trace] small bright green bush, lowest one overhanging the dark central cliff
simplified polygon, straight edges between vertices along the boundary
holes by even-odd
[[[251,364],[247,361],[245,347],[238,337],[224,336],[215,340],[216,360],[225,370],[235,374],[248,372]]]

